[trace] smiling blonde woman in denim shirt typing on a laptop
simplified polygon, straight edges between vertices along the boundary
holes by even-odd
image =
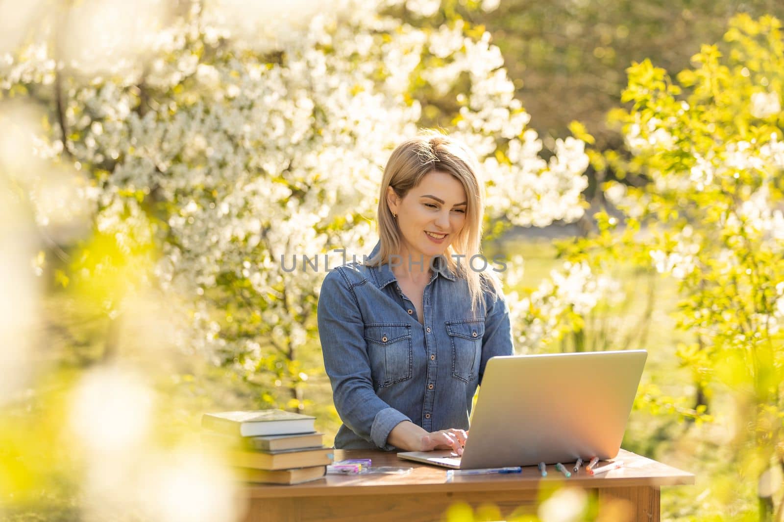
[[[384,169],[379,243],[324,279],[318,330],[343,426],[336,448],[452,448],[462,455],[488,359],[512,355],[509,311],[477,256],[477,161],[428,133]],[[474,261],[473,263],[471,261]]]

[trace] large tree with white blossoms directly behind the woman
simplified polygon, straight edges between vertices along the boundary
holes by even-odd
[[[45,107],[38,156],[76,169],[98,236],[126,253],[157,247],[152,279],[191,311],[183,347],[290,391],[267,405],[302,408],[310,370],[298,351],[317,335],[324,255],[372,247],[380,171],[416,132],[418,93],[459,106],[445,126],[481,158],[490,221],[579,218],[587,157],[573,138],[539,157],[488,33],[460,20],[412,27],[384,14],[399,1],[300,3],[294,17],[186,2],[154,31],[132,26],[134,52],[116,56],[64,45],[69,20],[103,13],[85,2],[43,17],[2,57],[0,93]],[[34,196],[33,181],[20,183]],[[67,276],[93,275],[75,262]],[[112,318],[121,296],[104,300]]]

